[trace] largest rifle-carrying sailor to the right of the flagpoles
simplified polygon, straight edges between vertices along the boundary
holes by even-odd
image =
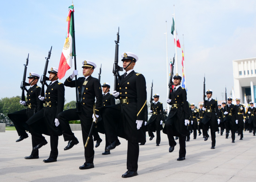
[[[215,144],[216,144],[216,131],[219,131],[218,124],[221,122],[220,118],[221,115],[219,113],[218,109],[218,101],[212,99],[212,90],[207,90],[206,91],[206,100],[205,102],[205,108],[203,108],[204,111],[204,118],[202,120],[202,126],[203,126],[203,135],[205,136],[204,141],[207,141],[209,135],[208,135],[208,130],[209,126],[211,129],[211,149],[215,149]]]

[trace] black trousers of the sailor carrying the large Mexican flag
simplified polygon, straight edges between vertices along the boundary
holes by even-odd
[[[91,114],[92,116],[93,114]],[[71,131],[69,126],[69,121],[71,120],[80,120],[82,126],[82,136],[83,136],[83,145],[86,144],[91,124],[93,123],[93,118],[86,117],[82,112],[76,112],[76,109],[68,109],[63,112],[60,112],[58,115],[60,122],[62,134],[64,141],[70,141],[75,139],[74,133]],[[93,163],[94,159],[94,149],[93,149],[93,138],[90,136],[89,142],[87,143],[86,148],[84,148],[84,157],[85,162]]]

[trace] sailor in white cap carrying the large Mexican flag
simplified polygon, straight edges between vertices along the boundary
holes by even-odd
[[[61,129],[63,132],[64,141],[68,141],[68,145],[64,150],[71,149],[74,145],[78,144],[78,139],[75,137],[74,133],[71,131],[69,126],[70,120],[80,120],[82,126],[83,135],[83,145],[86,144],[91,124],[93,120],[97,120],[99,117],[99,110],[102,106],[102,90],[101,84],[97,78],[92,77],[96,64],[89,60],[82,62],[83,66],[83,77],[78,78],[78,92],[79,92],[79,104],[82,111],[77,109],[68,109],[61,112],[58,115],[60,120]],[[69,76],[64,85],[67,87],[75,87],[76,83],[75,75],[78,75],[78,70],[74,70],[73,74]],[[96,97],[96,102],[95,102]],[[90,136],[89,142],[86,147],[84,147],[84,157],[85,163],[79,167],[79,169],[91,169],[94,168],[94,149],[93,149],[93,138]]]

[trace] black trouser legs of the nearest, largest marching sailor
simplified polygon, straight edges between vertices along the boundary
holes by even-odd
[[[104,108],[103,121],[106,130],[106,136],[109,142],[118,140],[117,125],[120,122],[121,110],[115,108]],[[128,141],[127,147],[127,170],[137,171],[139,159],[139,143],[133,143]]]

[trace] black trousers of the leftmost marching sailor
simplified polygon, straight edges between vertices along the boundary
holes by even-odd
[[[34,115],[34,109],[30,109],[30,108],[8,114],[8,117],[14,123],[14,126],[19,136],[24,136],[24,137],[28,136],[26,130],[27,131],[30,131],[30,130],[26,121],[29,118],[31,118],[31,116],[33,115]],[[37,144],[35,143],[34,137],[32,135],[31,135],[31,139],[32,139],[32,149],[33,149],[33,147],[37,146]],[[37,156],[38,150],[32,150],[31,155]]]

